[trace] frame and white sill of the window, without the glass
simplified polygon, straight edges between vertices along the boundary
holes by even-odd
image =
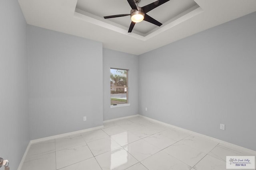
[[[110,107],[123,107],[123,106],[130,106],[129,104],[129,87],[128,87],[128,69],[124,69],[124,68],[114,68],[114,67],[110,67],[110,75],[111,75],[111,69],[115,69],[115,70],[125,70],[126,71],[126,86],[111,86],[110,85]],[[110,79],[111,81],[111,79]],[[126,88],[126,103],[125,104],[116,104],[116,105],[111,105],[111,88]]]

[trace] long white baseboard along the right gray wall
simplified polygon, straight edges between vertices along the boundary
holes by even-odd
[[[158,121],[158,120],[155,120],[155,119],[152,119],[152,118],[143,116],[143,115],[139,115],[139,116],[140,116],[140,117],[144,117],[145,119],[148,119],[148,120],[150,120],[150,121],[154,121],[154,122],[156,122],[156,123],[160,123],[160,124],[165,125],[165,126],[173,127],[173,128],[175,128],[175,129],[179,129],[179,130],[182,130],[182,131],[187,132],[187,133],[191,133],[191,134],[194,134],[194,135],[206,137],[206,138],[208,138],[208,139],[217,141],[218,143],[230,145],[231,147],[234,147],[235,149],[244,150],[245,152],[248,152],[248,153],[250,153],[250,154],[256,155],[256,151],[255,151],[255,150],[251,150],[251,149],[247,149],[247,148],[244,148],[244,147],[240,147],[240,146],[238,146],[238,145],[235,145],[235,144],[232,144],[232,143],[228,143],[228,142],[226,142],[226,141],[222,141],[222,140],[216,139],[216,138],[214,138],[214,137],[209,137],[209,136],[203,135],[203,134],[201,134],[201,133],[196,133],[196,132],[194,132],[194,131],[190,131],[190,130],[187,130],[187,129],[183,129],[183,128],[181,128],[181,127],[177,127],[177,126],[174,126],[174,125],[170,125],[170,124],[168,124],[168,123],[164,123],[164,122],[162,122],[162,121]]]

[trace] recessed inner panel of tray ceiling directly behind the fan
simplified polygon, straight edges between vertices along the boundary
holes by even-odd
[[[141,0],[138,5],[142,7],[155,1],[156,0]],[[170,0],[147,14],[164,24],[196,5],[194,0]],[[127,0],[78,0],[76,8],[100,18],[116,14],[130,14],[131,10]],[[110,18],[106,20],[127,27],[127,30],[131,23],[130,16]],[[147,21],[136,23],[134,26],[134,30],[142,34],[147,34],[156,28],[158,28],[158,26]]]

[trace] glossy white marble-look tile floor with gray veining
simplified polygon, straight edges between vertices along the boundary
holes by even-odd
[[[22,170],[226,170],[226,156],[256,156],[132,117],[30,146]]]

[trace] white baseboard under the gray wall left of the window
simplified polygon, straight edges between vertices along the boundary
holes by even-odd
[[[50,136],[50,137],[35,139],[35,140],[31,140],[30,142],[31,142],[31,144],[34,144],[34,143],[39,143],[39,142],[43,142],[43,141],[48,141],[48,140],[51,140],[51,139],[76,135],[76,134],[79,134],[79,133],[86,133],[88,131],[94,131],[94,130],[101,129],[101,128],[103,128],[103,125],[98,126],[98,127],[92,127],[92,128],[89,128],[89,129],[83,129],[83,130],[80,130],[80,131],[74,131],[74,132],[69,132],[69,133],[63,133],[63,134],[60,134],[60,135],[54,135],[54,136]]]

